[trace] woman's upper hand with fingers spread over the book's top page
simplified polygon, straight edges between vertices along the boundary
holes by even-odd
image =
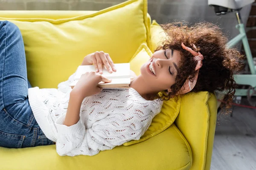
[[[108,72],[116,71],[115,65],[108,53],[103,51],[96,51],[84,57],[81,65],[94,65],[96,73],[102,74],[102,68],[106,66]]]

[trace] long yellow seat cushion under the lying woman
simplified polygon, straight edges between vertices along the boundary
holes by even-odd
[[[0,147],[1,170],[189,170],[191,149],[175,124],[131,146],[95,156],[58,156],[55,145],[22,149]]]

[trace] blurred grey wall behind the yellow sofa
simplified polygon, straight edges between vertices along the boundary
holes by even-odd
[[[0,0],[0,10],[100,10],[125,0]],[[230,38],[238,31],[235,28],[235,14],[216,16],[207,0],[148,0],[148,13],[158,23],[185,20],[191,23],[199,19],[216,23]],[[241,10],[244,23],[247,22],[250,6]]]

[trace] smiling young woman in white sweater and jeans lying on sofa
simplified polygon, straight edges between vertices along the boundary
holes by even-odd
[[[99,88],[104,64],[116,71],[111,57],[95,52],[82,65],[95,65],[70,88],[76,73],[58,89],[32,88],[20,30],[0,21],[0,146],[10,148],[55,144],[61,156],[96,155],[138,140],[161,110],[163,100],[189,91],[227,91],[233,98],[234,71],[241,54],[227,49],[227,38],[210,23],[188,27],[163,25],[167,39],[134,73],[130,88]],[[162,92],[161,94],[159,92]]]

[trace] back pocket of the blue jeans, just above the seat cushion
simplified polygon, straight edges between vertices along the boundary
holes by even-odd
[[[0,146],[9,148],[21,148],[23,141],[25,139],[24,135],[10,134],[0,131]]]

